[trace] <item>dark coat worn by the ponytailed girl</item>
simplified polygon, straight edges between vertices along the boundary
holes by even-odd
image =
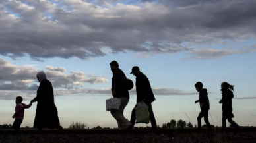
[[[222,89],[222,117],[234,118],[233,108],[232,108],[232,98],[234,94],[229,89]]]

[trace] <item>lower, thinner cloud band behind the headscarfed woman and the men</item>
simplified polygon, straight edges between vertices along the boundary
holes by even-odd
[[[110,88],[88,89],[84,88],[85,83],[101,84],[108,82],[107,78],[94,76],[79,71],[66,73],[65,67],[45,66],[46,76],[54,87],[55,96],[91,96],[91,95],[108,95],[111,96]],[[40,72],[36,65],[16,66],[5,59],[0,59],[0,99],[13,100],[16,96],[22,96],[29,99],[36,96],[38,81],[36,74]],[[129,91],[135,95],[135,88]],[[197,92],[184,92],[183,90],[171,88],[153,88],[156,95],[173,96],[173,95],[193,95]]]

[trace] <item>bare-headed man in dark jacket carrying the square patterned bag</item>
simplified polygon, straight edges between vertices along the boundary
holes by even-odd
[[[119,69],[119,64],[117,61],[112,61],[110,63],[111,71],[113,72],[112,77],[112,95],[114,98],[121,99],[121,105],[119,111],[110,111],[112,116],[118,123],[119,129],[131,129],[132,125],[129,120],[125,119],[123,116],[123,111],[129,102],[129,91],[127,88],[127,78],[123,71]]]

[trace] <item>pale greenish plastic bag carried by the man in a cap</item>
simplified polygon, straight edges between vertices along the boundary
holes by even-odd
[[[148,106],[143,101],[137,103],[137,107],[135,107],[135,115],[136,115],[136,123],[149,123],[149,112]]]

